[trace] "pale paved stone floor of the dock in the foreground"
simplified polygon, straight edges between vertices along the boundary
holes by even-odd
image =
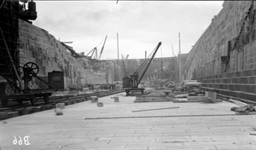
[[[66,106],[61,116],[51,109],[2,120],[0,149],[256,149],[256,116],[236,115],[234,103],[134,103],[124,95],[99,98],[103,107]],[[176,108],[132,113],[165,107]]]

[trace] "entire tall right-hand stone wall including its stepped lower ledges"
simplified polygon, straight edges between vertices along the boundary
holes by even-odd
[[[255,18],[255,2],[224,1],[189,52],[186,79],[197,79],[220,94],[255,100]]]

